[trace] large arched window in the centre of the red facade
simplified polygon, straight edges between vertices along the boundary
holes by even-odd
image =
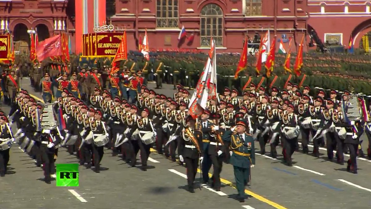
[[[201,46],[223,46],[223,11],[217,4],[207,4],[201,10]]]

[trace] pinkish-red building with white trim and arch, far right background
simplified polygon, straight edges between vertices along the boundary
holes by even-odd
[[[370,0],[308,0],[307,4],[308,26],[323,42],[335,39],[348,47],[352,36],[355,48],[370,52]]]

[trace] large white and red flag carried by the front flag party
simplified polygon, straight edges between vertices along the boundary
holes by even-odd
[[[207,107],[207,99],[215,96],[217,103],[219,103],[219,95],[216,92],[216,51],[215,42],[211,38],[211,48],[209,51],[209,58],[207,59],[205,68],[200,75],[195,91],[189,104],[189,113],[193,118],[200,116]]]

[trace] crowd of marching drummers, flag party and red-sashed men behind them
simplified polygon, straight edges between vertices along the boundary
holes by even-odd
[[[209,98],[208,108],[194,119],[187,112],[190,102],[187,89],[179,84],[173,97],[157,94],[147,88],[141,73],[117,72],[108,77],[107,85],[95,68],[82,68],[81,72],[70,75],[45,73],[42,81],[33,76],[32,85],[42,92],[44,102],[54,99],[58,102],[56,112],[62,112],[66,125],[65,130],[40,131],[37,131],[37,115],[43,118],[42,106],[26,90],[20,89],[14,69],[9,75],[3,75],[4,95],[9,97],[12,106],[8,118],[12,118],[18,128],[15,138],[26,144],[24,148],[29,150],[38,166],[43,163],[47,183],[55,173],[54,161],[59,146],[66,146],[70,154],[76,151],[80,164],[94,167],[96,173],[100,172],[104,147],[110,148],[114,156],[121,153],[133,167],[140,152],[143,171],[148,168],[152,147],[172,161],[176,161],[178,154],[180,162],[187,167],[188,190],[192,193],[199,161],[203,183],[217,191],[220,191],[223,162],[230,163],[241,202],[245,198],[244,187],[250,179],[250,168],[255,165],[254,140],[259,141],[261,154],[267,154],[269,145],[273,158],[278,156],[276,147],[282,146],[284,160],[292,166],[292,154],[299,149],[299,133],[303,153],[308,154],[308,144],[313,143],[312,154],[316,157],[326,139],[328,160],[336,159],[337,163],[344,164],[344,153],[349,152],[347,170],[357,173],[357,154],[364,155],[359,148],[359,137],[366,132],[367,155],[371,158],[369,121],[345,122],[338,99],[344,99],[347,104],[347,97],[339,98],[334,89],[328,95],[319,90],[318,96],[312,98],[309,86],[302,86],[300,90],[297,84],[288,82],[285,89],[279,89],[250,83],[243,89],[241,98],[239,90],[225,88],[220,101]],[[345,91],[343,95],[350,93]],[[0,123],[4,120],[6,118],[0,116]],[[342,128],[345,134],[339,133]],[[6,130],[1,129],[0,138],[9,138],[6,133],[3,135]],[[90,132],[93,140],[88,139]],[[153,134],[155,142],[144,140],[148,133]],[[95,143],[101,136],[108,141]],[[34,144],[32,148],[27,149],[31,144]],[[0,158],[0,169],[4,174],[9,151],[7,156],[1,151],[1,156],[4,157]],[[213,176],[209,179],[211,166]]]

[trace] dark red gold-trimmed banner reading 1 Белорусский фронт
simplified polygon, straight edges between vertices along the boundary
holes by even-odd
[[[83,57],[115,57],[123,33],[89,33],[83,37]]]

